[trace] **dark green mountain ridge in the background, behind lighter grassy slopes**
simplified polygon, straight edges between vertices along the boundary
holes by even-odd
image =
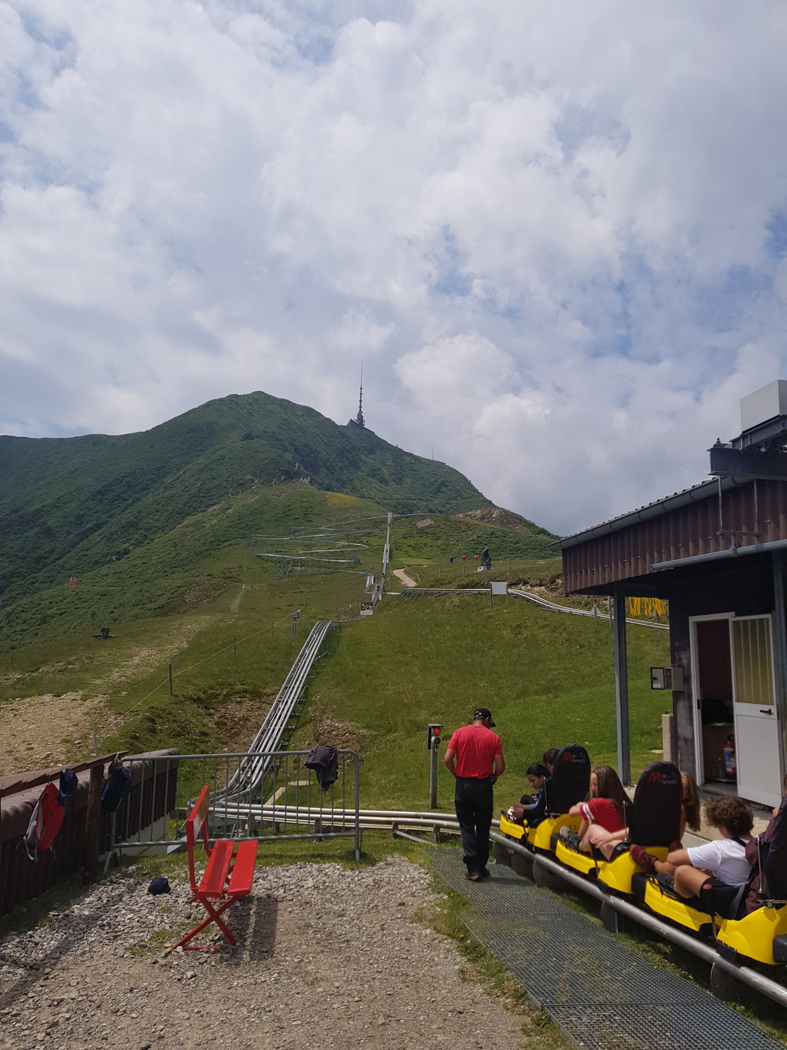
[[[119,561],[222,499],[293,482],[395,511],[494,508],[459,470],[370,430],[233,394],[128,435],[0,436],[0,595]]]

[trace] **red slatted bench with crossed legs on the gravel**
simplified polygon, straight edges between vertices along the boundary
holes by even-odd
[[[208,844],[207,817],[210,808],[211,797],[206,784],[196,800],[196,805],[189,814],[186,821],[186,845],[189,853],[189,878],[191,879],[191,891],[193,897],[191,903],[199,903],[208,912],[208,918],[195,926],[190,933],[182,938],[175,948],[187,947],[194,949],[199,947],[216,948],[218,945],[196,945],[189,944],[195,933],[198,933],[212,922],[218,926],[230,944],[236,944],[235,938],[227,928],[226,923],[220,918],[221,914],[231,907],[241,897],[251,892],[252,879],[254,878],[254,864],[257,860],[257,841],[246,839],[236,842],[233,839],[219,839],[211,847]],[[196,875],[194,874],[194,846],[203,835],[203,844],[208,855],[208,866],[205,869],[201,882],[197,886]]]

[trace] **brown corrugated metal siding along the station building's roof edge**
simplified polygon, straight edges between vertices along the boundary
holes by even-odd
[[[787,482],[758,481],[729,489],[722,496],[722,520],[724,529],[753,532],[759,525],[759,539],[741,537],[741,546],[787,540]],[[569,547],[562,552],[563,593],[609,588],[636,576],[643,578],[644,594],[657,593],[651,565],[728,548],[731,539],[720,537],[719,529],[719,499],[711,496]]]

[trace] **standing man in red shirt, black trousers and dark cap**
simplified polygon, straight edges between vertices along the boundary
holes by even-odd
[[[453,802],[462,830],[467,878],[472,882],[489,875],[487,861],[492,823],[492,784],[506,769],[503,743],[492,732],[493,726],[491,711],[476,708],[472,726],[463,726],[455,731],[443,758],[456,779]]]

